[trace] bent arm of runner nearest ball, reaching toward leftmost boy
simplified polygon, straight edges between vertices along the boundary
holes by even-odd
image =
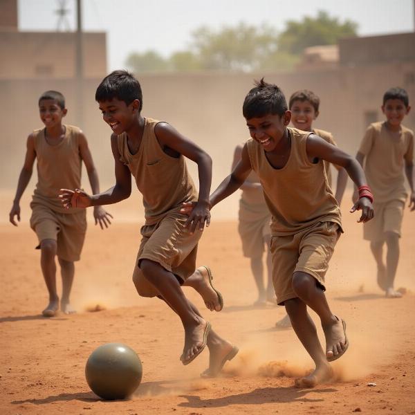
[[[115,161],[116,185],[106,192],[90,196],[80,189],[61,189],[59,198],[65,208],[89,208],[89,206],[111,205],[127,199],[131,194],[131,174],[120,161],[117,136],[111,136],[111,149]]]

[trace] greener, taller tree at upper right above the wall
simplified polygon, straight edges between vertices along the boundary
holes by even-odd
[[[357,36],[358,25],[346,20],[340,23],[336,17],[321,11],[317,17],[304,17],[302,21],[287,21],[286,29],[278,37],[278,50],[300,55],[308,46],[337,44],[342,37]]]

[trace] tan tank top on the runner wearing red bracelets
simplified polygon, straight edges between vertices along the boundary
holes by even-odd
[[[310,132],[288,128],[291,150],[286,165],[275,169],[264,148],[252,138],[248,154],[259,176],[268,209],[272,214],[271,233],[295,234],[317,222],[335,222],[341,227],[341,214],[324,172],[324,163],[311,163],[306,154]]]

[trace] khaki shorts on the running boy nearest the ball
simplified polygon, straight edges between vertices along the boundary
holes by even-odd
[[[184,282],[196,270],[197,244],[202,232],[190,234],[185,228],[187,216],[177,212],[168,213],[155,225],[141,228],[141,243],[138,249],[133,282],[142,297],[155,297],[156,288],[140,270],[140,261],[150,259],[157,262]]]

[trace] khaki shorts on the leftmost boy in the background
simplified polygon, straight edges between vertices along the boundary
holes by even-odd
[[[65,261],[79,261],[86,233],[86,211],[59,213],[37,203],[31,203],[30,227],[40,243],[44,239],[57,242],[57,256]]]

